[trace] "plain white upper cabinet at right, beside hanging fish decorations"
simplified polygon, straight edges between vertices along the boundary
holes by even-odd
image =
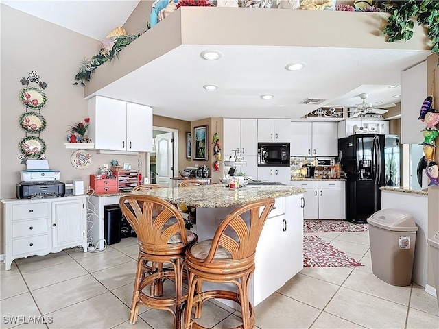
[[[436,70],[437,71],[437,70]],[[418,144],[424,140],[425,123],[418,120],[427,97],[427,61],[401,73],[401,143]]]

